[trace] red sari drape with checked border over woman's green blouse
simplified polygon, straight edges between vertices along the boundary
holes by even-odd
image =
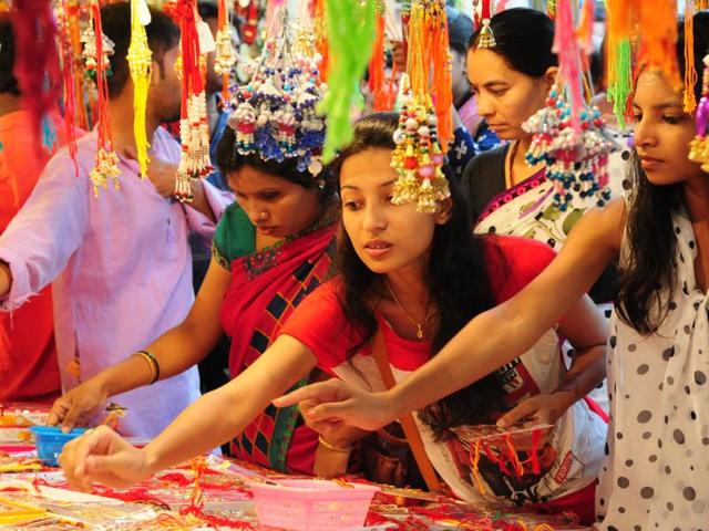
[[[232,283],[220,319],[232,339],[232,377],[268,348],[294,309],[330,277],[336,219],[328,214],[299,236],[230,262]],[[298,420],[297,406],[270,405],[233,440],[232,454],[280,471],[312,473],[318,436]]]

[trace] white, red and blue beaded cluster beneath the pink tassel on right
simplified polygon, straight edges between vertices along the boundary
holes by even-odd
[[[555,85],[546,106],[522,125],[534,135],[526,160],[546,165],[546,178],[554,183],[554,204],[562,211],[574,194],[582,198],[595,195],[598,206],[610,199],[607,163],[615,145],[604,129],[600,111],[584,106],[578,116],[580,135],[574,131],[572,115],[571,104]]]

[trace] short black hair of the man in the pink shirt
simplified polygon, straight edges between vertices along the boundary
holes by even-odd
[[[162,76],[164,75],[163,55],[178,44],[179,28],[162,11],[154,8],[150,10],[151,23],[145,27],[147,45],[153,52],[153,61],[161,69]],[[101,8],[101,25],[103,33],[115,44],[113,55],[109,55],[112,73],[106,76],[109,97],[113,98],[123,92],[131,76],[126,60],[131,44],[131,4],[120,2]]]

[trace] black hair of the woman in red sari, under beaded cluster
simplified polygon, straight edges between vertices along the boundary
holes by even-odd
[[[216,164],[225,176],[230,171],[237,171],[244,166],[248,166],[258,171],[289,180],[304,188],[317,188],[325,183],[325,187],[321,188],[319,196],[321,200],[325,202],[332,200],[335,197],[336,185],[328,167],[325,167],[320,175],[314,177],[307,169],[302,171],[298,169],[297,158],[286,158],[279,163],[273,158],[270,160],[264,160],[258,153],[242,155],[236,149],[236,133],[232,127],[224,129],[224,136],[222,136],[217,145]]]

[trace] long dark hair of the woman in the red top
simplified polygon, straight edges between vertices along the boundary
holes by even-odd
[[[342,163],[348,157],[368,149],[393,149],[398,119],[393,113],[376,113],[357,122],[354,139],[332,163],[337,180]],[[453,204],[451,219],[435,227],[428,271],[430,298],[439,311],[433,355],[471,319],[495,305],[485,264],[485,238],[473,236],[463,195],[454,179],[449,179],[449,183]],[[340,301],[345,313],[354,327],[364,331],[363,342],[349,353],[351,356],[359,346],[370,342],[377,332],[372,306],[381,294],[381,275],[360,260],[345,230],[338,246],[338,266],[345,284]],[[420,412],[420,417],[431,426],[436,437],[445,438],[451,427],[489,421],[493,412],[503,408],[504,396],[496,373],[492,373],[427,407]]]

